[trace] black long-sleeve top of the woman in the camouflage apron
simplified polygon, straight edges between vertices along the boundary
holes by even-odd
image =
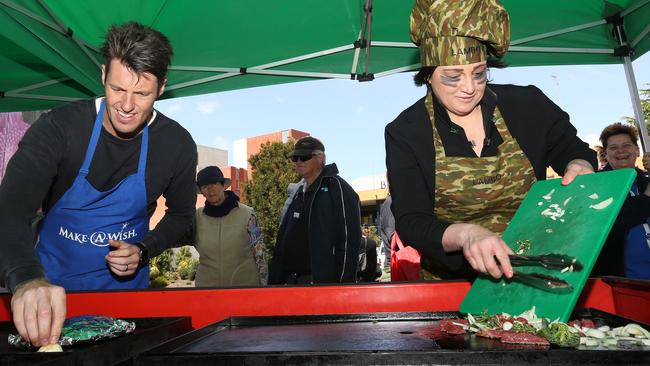
[[[494,123],[489,123],[497,106],[538,180],[546,178],[546,167],[563,173],[573,159],[584,159],[596,166],[595,151],[578,138],[568,114],[534,86],[489,85],[481,107],[490,142],[486,140],[481,156],[496,156],[503,142]],[[453,124],[441,108],[436,108],[435,113],[446,155],[476,156],[462,128]],[[434,215],[435,150],[424,98],[386,126],[385,139],[396,231],[404,243],[427,259],[450,271],[459,270],[462,253],[446,253],[442,248],[442,235],[451,223]]]

